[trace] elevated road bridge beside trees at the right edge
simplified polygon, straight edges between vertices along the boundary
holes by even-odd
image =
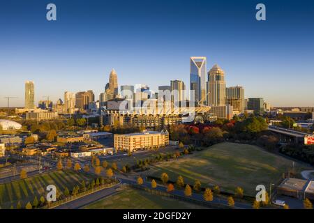
[[[307,132],[300,132],[271,125],[269,125],[268,130],[278,134],[279,141],[281,142],[294,142],[298,144],[304,144],[304,139],[308,136],[311,136],[311,134],[308,134]]]

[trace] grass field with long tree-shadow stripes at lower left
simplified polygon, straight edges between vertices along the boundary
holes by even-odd
[[[87,174],[76,173],[75,171],[54,171],[40,176],[34,176],[24,180],[15,180],[11,183],[0,185],[0,206],[1,208],[16,208],[20,201],[24,207],[27,202],[33,203],[35,196],[39,200],[45,197],[47,185],[55,185],[57,191],[63,193],[65,187],[72,190],[75,185],[80,185],[82,180],[91,180]]]

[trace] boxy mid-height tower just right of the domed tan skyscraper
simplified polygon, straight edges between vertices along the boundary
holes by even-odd
[[[244,113],[244,88],[241,86],[230,86],[225,89],[226,104],[232,105],[234,112]]]

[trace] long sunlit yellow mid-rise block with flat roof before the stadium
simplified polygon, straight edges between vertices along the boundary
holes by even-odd
[[[119,151],[137,151],[169,145],[169,133],[143,131],[132,134],[114,134],[114,148]]]

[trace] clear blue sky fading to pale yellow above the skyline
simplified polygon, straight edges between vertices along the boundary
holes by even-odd
[[[46,20],[47,3],[57,21]],[[264,3],[267,21],[255,20]],[[314,106],[314,1],[0,2],[0,107],[24,106],[24,82],[36,102],[92,89],[98,98],[112,68],[121,84],[156,90],[189,82],[190,56],[218,63],[227,86],[275,106]]]

